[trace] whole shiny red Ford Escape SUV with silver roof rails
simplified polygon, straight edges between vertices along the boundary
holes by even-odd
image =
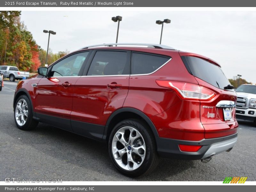
[[[107,142],[117,170],[136,177],[152,171],[159,156],[208,162],[230,151],[235,103],[214,60],[164,45],[102,44],[20,81],[13,107],[22,130],[44,122]]]

